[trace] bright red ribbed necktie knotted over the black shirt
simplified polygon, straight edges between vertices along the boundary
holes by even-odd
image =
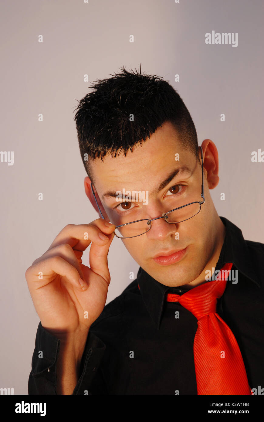
[[[216,312],[232,265],[224,265],[219,280],[200,284],[183,295],[167,294],[168,302],[179,302],[197,318],[194,365],[198,394],[252,394],[234,334]],[[222,273],[225,270],[227,276]]]

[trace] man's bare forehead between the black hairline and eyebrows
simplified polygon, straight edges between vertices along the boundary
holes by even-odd
[[[175,161],[175,154],[179,160]],[[175,127],[166,122],[162,127],[137,144],[133,152],[113,158],[106,157],[90,162],[94,184],[98,194],[108,189],[151,189],[159,184],[172,170],[181,166],[194,166],[195,156],[183,148]],[[132,190],[130,189],[130,190]]]

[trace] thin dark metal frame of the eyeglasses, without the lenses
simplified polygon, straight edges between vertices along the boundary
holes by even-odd
[[[115,235],[116,235],[116,237],[117,237],[117,238],[119,238],[119,239],[130,239],[130,238],[132,238],[132,237],[142,236],[142,235],[144,235],[145,233],[148,233],[148,231],[151,229],[151,222],[152,222],[152,221],[154,221],[154,220],[158,220],[158,219],[160,219],[160,218],[164,218],[164,220],[165,220],[168,224],[178,224],[178,223],[181,223],[181,222],[183,222],[183,221],[189,220],[190,218],[193,218],[194,216],[196,216],[197,214],[199,214],[199,212],[201,211],[201,205],[202,205],[203,203],[205,203],[205,196],[204,196],[204,166],[203,166],[203,154],[202,154],[202,147],[201,147],[201,146],[199,146],[199,148],[201,149],[201,159],[202,159],[202,192],[201,192],[201,197],[202,197],[202,199],[203,199],[203,200],[202,200],[202,201],[194,201],[194,202],[190,202],[189,204],[182,205],[182,206],[180,206],[180,207],[178,207],[178,208],[174,208],[173,210],[170,210],[170,211],[168,211],[167,213],[164,213],[164,215],[163,215],[163,216],[161,216],[161,217],[156,217],[156,218],[153,218],[153,219],[151,219],[151,220],[150,220],[150,219],[148,219],[148,218],[142,218],[142,219],[140,219],[140,220],[131,221],[131,222],[129,222],[129,223],[125,223],[125,224],[120,224],[119,226],[116,226],[116,229],[118,229],[119,227],[127,226],[128,224],[137,223],[137,222],[139,222],[139,221],[147,221],[147,224],[149,224],[149,225],[150,225],[150,227],[149,227],[149,229],[148,229],[147,231],[145,231],[144,233],[141,233],[140,235],[128,236],[128,237],[120,237],[120,236],[118,236],[118,235],[115,233],[115,231],[114,231],[114,233],[115,233]],[[93,195],[94,195],[94,199],[95,199],[96,205],[97,205],[97,207],[98,207],[98,209],[99,209],[99,211],[100,211],[100,214],[101,214],[101,216],[102,216],[102,219],[104,219],[104,220],[105,220],[105,217],[102,215],[101,210],[100,210],[100,207],[99,207],[99,205],[98,205],[98,203],[97,203],[97,200],[96,200],[96,197],[95,197],[95,194],[94,194],[94,189],[93,189],[93,184],[92,184],[92,183],[91,183],[91,188],[92,188],[92,192],[93,192]],[[195,204],[195,203],[198,203],[198,204],[199,204],[200,209],[199,209],[199,211],[198,211],[196,214],[194,214],[193,216],[191,216],[191,217],[189,217],[189,218],[186,218],[185,220],[178,221],[178,222],[173,222],[173,223],[171,223],[171,222],[167,221],[167,219],[169,218],[169,217],[167,216],[167,214],[170,214],[170,212],[172,212],[172,211],[176,211],[176,210],[178,210],[178,209],[180,209],[180,208],[183,208],[183,207],[186,207],[186,206],[188,206],[188,205]],[[115,229],[115,230],[116,230],[116,229]]]

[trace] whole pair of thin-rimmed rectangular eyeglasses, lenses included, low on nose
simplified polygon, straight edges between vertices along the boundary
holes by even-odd
[[[202,147],[199,147],[201,149],[201,159],[202,159],[202,192],[201,197],[202,201],[194,201],[190,202],[186,205],[182,205],[178,208],[174,208],[167,213],[163,213],[161,217],[156,217],[153,219],[140,219],[136,221],[132,221],[129,223],[121,224],[116,226],[114,233],[116,237],[119,239],[129,239],[137,236],[141,236],[145,233],[147,233],[151,229],[151,222],[154,220],[158,220],[160,218],[164,218],[164,220],[169,224],[177,224],[181,223],[183,221],[189,220],[190,218],[194,217],[201,211],[201,205],[205,203],[205,197],[204,197],[204,167],[203,167],[203,154],[202,154]],[[100,210],[100,207],[97,203],[93,184],[91,183],[92,193],[94,195],[94,199],[96,202],[96,205],[100,211],[100,214],[102,216],[102,219],[105,220],[105,217],[102,215],[102,212]],[[132,234],[132,235],[131,235]]]

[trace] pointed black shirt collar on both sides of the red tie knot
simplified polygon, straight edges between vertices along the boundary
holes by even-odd
[[[232,262],[238,271],[257,284],[257,286],[261,287],[254,271],[242,231],[225,217],[220,218],[226,226],[226,234],[215,271],[221,269],[227,262]],[[159,330],[165,295],[168,290],[173,292],[173,287],[159,283],[159,281],[151,277],[141,267],[137,273],[137,283],[139,284],[140,294],[148,313],[155,327]],[[179,288],[182,290],[185,289],[184,286],[180,286]]]

